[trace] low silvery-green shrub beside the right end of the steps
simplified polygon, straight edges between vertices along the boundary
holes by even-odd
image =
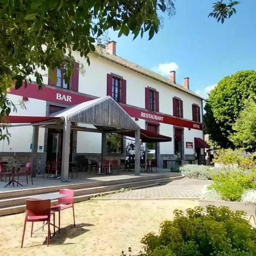
[[[211,179],[211,172],[208,166],[197,164],[186,164],[180,166],[182,175],[190,179],[209,180]]]

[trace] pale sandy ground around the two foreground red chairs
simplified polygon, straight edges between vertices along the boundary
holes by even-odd
[[[62,211],[61,233],[50,239],[47,247],[47,229],[39,230],[30,238],[31,224],[28,223],[23,249],[20,244],[25,214],[3,216],[0,217],[0,255],[119,256],[128,247],[132,248],[133,254],[139,253],[142,249],[140,239],[148,232],[157,232],[162,221],[172,219],[175,208],[187,209],[196,205],[198,201],[192,200],[95,200],[77,203],[76,227],[72,224],[72,209]],[[34,230],[40,224],[35,223]]]

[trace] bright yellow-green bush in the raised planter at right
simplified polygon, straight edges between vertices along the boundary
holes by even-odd
[[[247,189],[256,189],[254,177],[254,172],[244,174],[233,171],[226,175],[221,173],[213,176],[213,183],[208,188],[214,189],[223,200],[241,201],[241,196]]]

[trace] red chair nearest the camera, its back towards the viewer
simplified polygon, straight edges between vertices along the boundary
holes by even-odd
[[[51,235],[50,233],[51,215],[53,215],[53,228],[54,228],[54,234],[55,234],[55,213],[51,212],[51,200],[50,199],[26,200],[26,214],[25,214],[25,221],[24,221],[24,227],[23,227],[21,248],[23,247],[26,223],[32,222],[31,233],[30,233],[30,237],[32,237],[33,224],[34,222],[39,222],[39,221],[43,221],[43,222],[47,221],[47,226],[48,226],[47,246],[49,246],[49,238]]]

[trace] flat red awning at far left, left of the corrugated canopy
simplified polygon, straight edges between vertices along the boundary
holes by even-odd
[[[11,123],[11,124],[33,124],[37,122],[45,122],[52,119],[56,119],[53,116],[5,116],[1,123]]]

